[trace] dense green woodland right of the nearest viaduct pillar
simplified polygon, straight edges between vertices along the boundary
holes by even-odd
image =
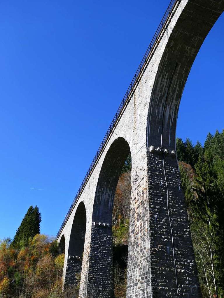
[[[177,139],[182,189],[204,297],[224,293],[224,131],[208,133],[204,148]],[[189,167],[195,173],[189,175]],[[193,178],[192,178],[193,177]],[[207,256],[207,257],[206,257]],[[203,265],[203,266],[202,266]]]

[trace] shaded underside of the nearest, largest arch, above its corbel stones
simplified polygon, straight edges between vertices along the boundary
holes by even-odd
[[[147,145],[175,150],[180,99],[191,66],[209,31],[224,10],[222,0],[181,1],[185,5],[167,30],[167,41],[151,93]],[[181,5],[180,4],[180,5]],[[170,34],[170,36],[168,36]],[[159,146],[160,145],[160,146]]]

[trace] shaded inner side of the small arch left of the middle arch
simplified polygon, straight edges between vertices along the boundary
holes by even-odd
[[[75,285],[80,282],[82,272],[82,258],[86,232],[85,204],[80,202],[73,219],[70,233],[67,266],[65,273],[65,286]]]

